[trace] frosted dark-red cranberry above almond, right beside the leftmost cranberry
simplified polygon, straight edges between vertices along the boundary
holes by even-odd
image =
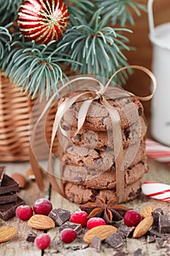
[[[33,209],[35,214],[48,215],[52,210],[53,206],[50,200],[46,198],[40,198],[35,201]]]

